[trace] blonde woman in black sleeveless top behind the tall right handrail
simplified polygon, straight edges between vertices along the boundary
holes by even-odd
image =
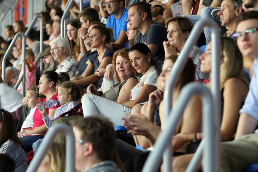
[[[221,141],[230,141],[236,132],[239,111],[249,91],[249,83],[243,76],[243,58],[236,41],[224,36],[221,37],[221,40],[220,90],[223,113],[221,114],[220,139]],[[203,72],[211,72],[211,51],[211,42],[209,42],[205,53],[200,56],[202,62],[200,68]],[[173,137],[172,144],[174,149],[177,149],[184,143],[202,138],[202,133],[178,134]],[[173,160],[173,169],[185,171],[192,157],[193,154],[176,157]],[[202,168],[201,164],[198,168]]]

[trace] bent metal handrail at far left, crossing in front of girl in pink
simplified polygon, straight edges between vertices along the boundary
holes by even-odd
[[[9,47],[7,48],[3,61],[2,61],[2,79],[3,82],[5,83],[5,65],[6,65],[6,59],[7,56],[9,55],[9,53],[12,51],[12,48],[15,44],[15,41],[17,40],[17,38],[21,36],[22,38],[22,59],[25,59],[25,48],[26,48],[26,41],[25,41],[25,35],[21,32],[18,32],[15,34],[11,44],[9,45]],[[22,72],[25,74],[25,63],[22,63]],[[23,77],[22,80],[22,94],[23,96],[25,96],[25,76]]]

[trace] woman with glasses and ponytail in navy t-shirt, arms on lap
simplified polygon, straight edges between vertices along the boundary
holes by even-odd
[[[71,81],[74,81],[82,88],[82,93],[86,93],[86,89],[91,83],[94,83],[97,87],[101,86],[103,78],[95,72],[99,68],[106,68],[108,64],[111,64],[114,55],[114,51],[107,46],[113,41],[113,31],[111,28],[95,25],[92,27],[90,34],[86,36],[88,36],[91,42],[91,48],[95,48],[98,54],[90,59],[87,68],[81,76],[71,78]]]

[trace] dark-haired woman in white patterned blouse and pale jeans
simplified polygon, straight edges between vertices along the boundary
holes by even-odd
[[[137,85],[131,89],[130,99],[117,103],[93,94],[87,94],[82,99],[84,117],[101,114],[108,117],[114,126],[122,125],[121,119],[125,113],[130,113],[138,103],[148,100],[149,94],[156,90],[158,73],[151,58],[151,50],[145,44],[136,44],[129,50],[129,58],[140,74],[143,74]]]

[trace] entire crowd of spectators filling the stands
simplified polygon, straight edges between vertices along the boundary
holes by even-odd
[[[141,171],[164,129],[166,81],[194,25],[202,18],[216,21],[221,33],[217,35],[221,39],[220,171],[239,171],[258,163],[258,137],[253,134],[258,124],[257,0],[182,0],[181,16],[173,16],[170,5],[177,2],[173,0],[90,0],[84,1],[81,11],[75,0],[65,18],[63,38],[61,18],[67,2],[45,1],[45,11],[35,14],[42,16],[43,27],[38,19],[30,31],[20,20],[3,28],[0,161],[15,164],[8,171],[25,171],[32,152],[36,154],[48,129],[56,124],[68,124],[74,132],[76,170]],[[18,32],[27,34],[25,57],[22,37],[14,40]],[[178,74],[172,90],[173,107],[181,89],[190,82],[211,89],[214,48],[210,28],[204,27],[203,33],[196,46],[189,47],[186,65]],[[13,41],[12,52],[6,54]],[[38,61],[43,62],[43,73]],[[58,104],[37,108],[37,103],[48,100],[58,100]],[[67,115],[77,106],[83,114]],[[202,108],[199,95],[194,94],[171,136],[174,171],[186,170],[205,138]],[[120,133],[114,131],[116,126],[125,128]],[[124,137],[119,137],[121,134]],[[65,171],[65,156],[65,134],[59,133],[38,171]],[[163,165],[157,165],[163,171]],[[202,170],[201,162],[198,168]],[[0,166],[0,171],[7,171],[6,167]]]

